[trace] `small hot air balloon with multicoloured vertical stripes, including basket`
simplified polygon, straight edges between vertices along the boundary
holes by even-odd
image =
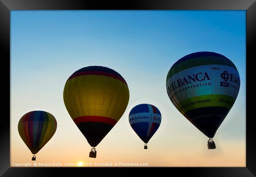
[[[31,111],[20,118],[18,131],[33,154],[32,160],[35,160],[35,154],[52,138],[56,128],[56,119],[46,111]]]

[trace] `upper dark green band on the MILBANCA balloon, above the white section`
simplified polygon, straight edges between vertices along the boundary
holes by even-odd
[[[174,74],[182,70],[186,70],[188,68],[193,68],[201,65],[225,65],[225,66],[230,66],[237,70],[234,63],[232,63],[227,59],[224,59],[223,57],[217,57],[217,56],[197,57],[197,58],[188,59],[186,61],[179,63],[178,65],[173,66],[173,68],[170,69],[167,74],[166,81],[168,81],[168,79],[172,77]]]

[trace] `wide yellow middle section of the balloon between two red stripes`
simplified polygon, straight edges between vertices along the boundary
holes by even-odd
[[[63,100],[72,119],[103,116],[118,121],[128,104],[129,89],[113,77],[80,76],[65,84]]]

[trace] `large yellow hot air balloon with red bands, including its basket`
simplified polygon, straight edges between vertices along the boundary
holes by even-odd
[[[104,66],[88,66],[74,72],[65,83],[63,99],[70,117],[95,147],[119,121],[129,101],[124,78]]]

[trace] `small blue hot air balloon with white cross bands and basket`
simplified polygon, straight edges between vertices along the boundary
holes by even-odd
[[[148,141],[161,124],[161,113],[154,105],[140,104],[130,111],[129,123],[135,133],[145,143],[144,149],[148,149]]]

